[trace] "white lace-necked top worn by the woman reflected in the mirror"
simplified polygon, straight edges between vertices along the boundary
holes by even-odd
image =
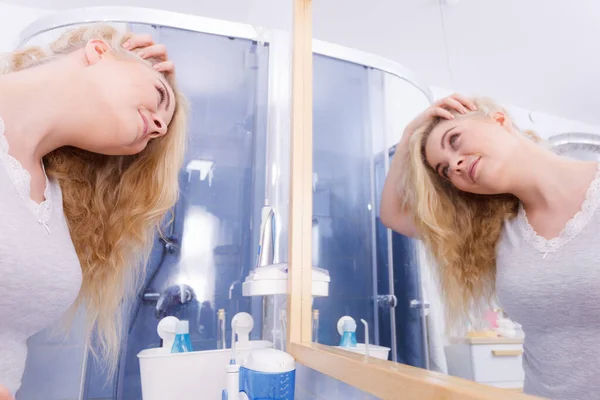
[[[600,168],[600,166],[599,166]],[[558,237],[538,236],[521,208],[497,250],[496,290],[523,325],[527,394],[600,396],[600,170]]]

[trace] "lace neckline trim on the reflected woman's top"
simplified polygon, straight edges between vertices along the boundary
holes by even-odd
[[[565,227],[560,231],[557,237],[552,239],[546,239],[533,229],[525,209],[521,204],[519,207],[518,214],[518,225],[521,230],[523,238],[531,247],[538,250],[541,253],[553,253],[560,249],[562,246],[567,244],[571,239],[577,236],[583,228],[590,222],[590,219],[594,215],[598,204],[600,204],[600,163],[598,163],[598,169],[596,170],[596,176],[588,188],[581,209],[577,214],[567,221]]]

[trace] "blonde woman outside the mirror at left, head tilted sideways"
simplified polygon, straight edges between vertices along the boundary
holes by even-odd
[[[7,66],[0,385],[14,395],[25,340],[69,308],[84,307],[114,370],[121,305],[177,199],[186,107],[164,46],[109,26],[70,30]]]

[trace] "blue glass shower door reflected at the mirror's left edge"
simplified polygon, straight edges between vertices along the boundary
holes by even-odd
[[[336,323],[348,315],[377,338],[368,128],[368,70],[314,56],[313,264],[329,271],[329,297],[315,298],[319,341],[338,345]],[[364,343],[362,326],[357,340]]]

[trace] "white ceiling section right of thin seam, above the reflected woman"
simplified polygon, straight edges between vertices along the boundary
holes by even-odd
[[[465,0],[443,11],[454,87],[600,123],[600,2]]]

